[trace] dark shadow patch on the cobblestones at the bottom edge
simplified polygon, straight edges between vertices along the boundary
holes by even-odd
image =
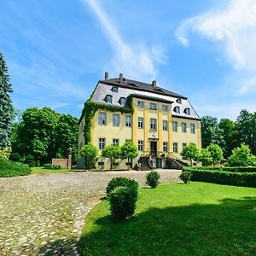
[[[40,248],[38,255],[45,256],[73,256],[77,255],[77,241],[74,239],[60,239],[48,242]]]

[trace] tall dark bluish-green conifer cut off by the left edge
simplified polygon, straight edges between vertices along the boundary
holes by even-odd
[[[11,125],[14,116],[14,107],[10,98],[12,92],[8,67],[0,53],[0,149],[10,146]]]

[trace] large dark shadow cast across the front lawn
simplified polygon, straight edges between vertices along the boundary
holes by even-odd
[[[108,215],[94,226],[80,237],[82,255],[256,255],[256,197],[149,208],[125,222]]]

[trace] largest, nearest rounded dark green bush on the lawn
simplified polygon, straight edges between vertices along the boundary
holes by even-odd
[[[137,195],[132,187],[117,187],[109,194],[110,212],[118,219],[125,219],[134,214]]]

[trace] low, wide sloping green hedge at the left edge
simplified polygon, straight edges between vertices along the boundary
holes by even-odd
[[[15,177],[31,174],[28,165],[0,158],[0,177]]]

